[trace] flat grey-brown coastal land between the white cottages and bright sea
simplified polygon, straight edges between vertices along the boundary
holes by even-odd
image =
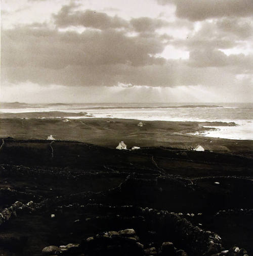
[[[3,118],[7,115],[9,118]],[[19,118],[10,118],[12,115]],[[31,115],[33,118],[30,118]],[[54,112],[50,115],[59,114]],[[66,116],[66,113],[63,115]],[[201,144],[206,150],[212,151],[245,151],[246,153],[253,149],[253,143],[250,140],[227,140],[193,135],[215,130],[212,126],[233,126],[235,125],[233,122],[80,119],[79,117],[73,119],[77,115],[72,113],[72,118],[39,119],[40,113],[0,114],[2,117],[0,137],[45,140],[49,135],[53,135],[56,140],[80,141],[111,148],[115,148],[120,141],[124,141],[128,148],[165,146],[190,149]],[[143,126],[138,126],[139,122],[142,122]]]

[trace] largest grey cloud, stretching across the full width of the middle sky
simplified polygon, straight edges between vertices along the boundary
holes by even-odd
[[[208,55],[208,52],[191,50],[189,61],[155,58],[153,55],[161,53],[165,47],[161,42],[164,36],[152,38],[151,35],[128,37],[123,31],[113,29],[85,30],[78,34],[37,24],[3,30],[1,79],[40,85],[125,83],[173,87],[212,85],[218,78],[226,84],[232,82],[235,74],[250,72],[246,65],[250,67],[252,59],[244,55],[227,57],[217,51]],[[228,72],[228,76],[224,75]]]

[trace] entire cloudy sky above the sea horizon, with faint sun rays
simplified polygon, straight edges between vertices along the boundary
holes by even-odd
[[[2,0],[0,101],[252,102],[252,0]]]

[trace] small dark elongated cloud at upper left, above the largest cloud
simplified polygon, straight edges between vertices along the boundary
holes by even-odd
[[[58,14],[53,15],[55,24],[59,27],[81,25],[98,29],[121,28],[129,25],[128,22],[117,16],[111,17],[95,10],[73,11],[75,7],[77,7],[75,4],[63,6]]]

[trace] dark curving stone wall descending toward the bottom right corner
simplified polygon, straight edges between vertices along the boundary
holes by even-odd
[[[182,246],[181,248],[186,250],[190,255],[228,255],[227,253],[229,250],[223,248],[222,239],[218,234],[202,230],[201,228],[192,225],[192,223],[183,218],[181,214],[150,208],[106,206],[102,204],[73,204],[61,206],[60,209],[64,211],[71,208],[75,208],[76,210],[82,209],[83,212],[94,211],[102,214],[103,212],[106,213],[110,211],[112,213],[111,215],[96,216],[94,218],[78,221],[88,221],[91,222],[91,225],[93,225],[93,222],[103,222],[108,223],[108,225],[115,221],[117,223],[129,223],[132,227],[137,228],[138,232],[141,233],[141,237],[152,237],[151,235],[153,235],[153,237],[156,237],[155,239],[159,241],[163,240],[173,243],[175,242],[178,245],[181,244],[180,247]],[[79,225],[81,225],[81,222],[79,223]],[[96,241],[98,243],[100,240]],[[160,248],[156,247],[155,249],[158,253]],[[230,249],[230,251],[231,250],[232,249]],[[233,256],[243,256],[244,254],[246,254],[246,251],[244,249],[239,249],[238,253],[233,254]]]

